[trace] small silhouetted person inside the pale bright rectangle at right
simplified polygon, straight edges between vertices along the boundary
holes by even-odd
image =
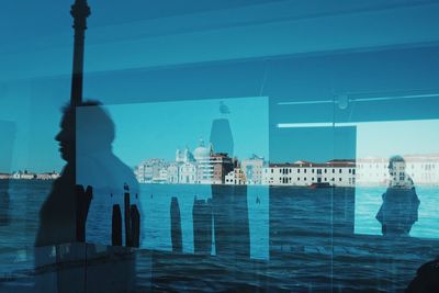
[[[403,157],[391,157],[389,188],[382,195],[383,204],[376,214],[384,236],[408,236],[413,224],[418,221],[419,199],[405,169]]]

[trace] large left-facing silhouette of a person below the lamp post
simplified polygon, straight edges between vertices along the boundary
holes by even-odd
[[[40,211],[35,246],[77,240],[76,184],[93,189],[86,240],[110,245],[112,204],[123,206],[127,187],[138,193],[133,171],[112,153],[114,124],[99,102],[85,102],[64,109],[60,127],[55,139],[67,164]]]

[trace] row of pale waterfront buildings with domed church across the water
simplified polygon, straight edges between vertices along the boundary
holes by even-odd
[[[439,154],[404,156],[398,172],[406,173],[415,184],[439,185]],[[214,153],[212,145],[200,142],[193,153],[177,149],[176,160],[148,159],[135,168],[140,183],[171,184],[247,184],[336,187],[387,185],[392,177],[389,158],[336,159],[327,162],[295,161],[269,164],[252,155],[238,160],[224,153]],[[395,179],[395,178],[393,178]]]

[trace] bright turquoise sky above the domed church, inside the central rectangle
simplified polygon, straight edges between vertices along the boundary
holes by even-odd
[[[219,113],[221,101],[230,114]],[[177,148],[188,146],[193,151],[200,139],[207,145],[212,121],[225,117],[233,133],[234,156],[243,159],[257,154],[268,158],[268,99],[263,97],[122,104],[106,109],[116,125],[114,154],[132,167],[148,158],[173,161]]]

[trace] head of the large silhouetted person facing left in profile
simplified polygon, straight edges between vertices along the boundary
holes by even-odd
[[[89,154],[110,149],[114,139],[114,123],[97,101],[87,101],[75,108],[64,109],[61,129],[55,139],[59,142],[61,158],[67,162],[75,160],[76,151]],[[77,140],[76,136],[81,139]]]

